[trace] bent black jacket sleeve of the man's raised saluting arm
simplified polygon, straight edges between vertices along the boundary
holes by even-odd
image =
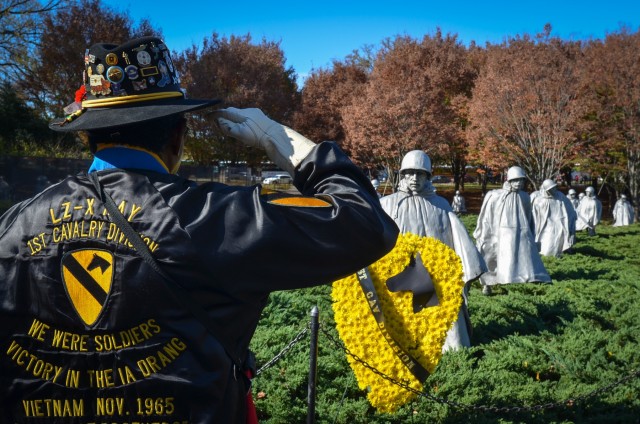
[[[208,245],[212,273],[232,274],[238,290],[302,288],[354,273],[394,247],[396,224],[366,176],[334,143],[314,147],[294,185],[321,205],[273,202],[259,186],[212,194],[209,229],[189,230],[199,245]]]

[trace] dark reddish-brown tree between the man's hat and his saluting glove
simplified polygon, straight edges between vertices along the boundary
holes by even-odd
[[[187,95],[221,98],[227,107],[258,107],[291,125],[298,92],[296,74],[285,61],[280,43],[263,39],[256,44],[250,34],[226,38],[213,33],[202,47],[193,45],[176,56],[175,64]],[[190,127],[186,150],[197,163],[225,159],[258,166],[266,158],[261,150],[224,137],[210,114],[194,114]]]

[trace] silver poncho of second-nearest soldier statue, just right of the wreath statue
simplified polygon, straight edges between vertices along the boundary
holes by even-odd
[[[536,247],[529,194],[512,189],[489,191],[484,198],[473,236],[489,272],[483,285],[551,282]]]

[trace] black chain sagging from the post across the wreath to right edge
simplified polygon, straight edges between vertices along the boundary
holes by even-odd
[[[352,353],[349,348],[347,348],[341,341],[336,340],[335,337],[333,337],[325,328],[323,325],[320,326],[320,331],[322,331],[322,333],[329,339],[329,341],[331,341],[336,347],[338,347],[339,349],[342,349],[345,351],[345,353],[349,356],[351,356],[356,362],[360,363],[362,366],[364,366],[365,368],[369,369],[371,372],[373,372],[374,374],[378,375],[379,377],[389,381],[392,384],[395,384],[399,387],[402,387],[405,390],[408,390],[411,393],[416,394],[417,396],[432,400],[434,402],[437,403],[441,403],[453,408],[458,408],[458,409],[464,409],[464,410],[472,410],[472,411],[481,411],[481,412],[494,412],[494,413],[517,413],[517,412],[534,412],[534,411],[543,411],[543,410],[547,410],[547,409],[554,409],[554,408],[560,408],[560,407],[572,407],[573,405],[575,405],[578,402],[582,402],[588,398],[594,397],[598,394],[604,393],[608,390],[611,390],[617,386],[622,386],[625,383],[627,383],[628,381],[640,377],[640,371],[636,371],[636,370],[632,370],[631,373],[621,379],[619,379],[618,381],[615,381],[613,383],[607,384],[606,386],[603,386],[601,388],[595,389],[589,393],[580,395],[580,396],[576,396],[576,397],[572,397],[569,398],[567,400],[563,400],[563,401],[558,401],[558,402],[549,402],[549,403],[545,403],[542,405],[531,405],[531,406],[502,406],[502,407],[498,407],[498,406],[489,406],[489,405],[470,405],[470,404],[464,404],[464,403],[459,403],[459,402],[455,402],[452,400],[449,400],[447,398],[444,397],[438,397],[438,396],[434,396],[430,393],[424,392],[424,391],[419,391],[416,390],[414,388],[412,388],[411,386],[409,386],[408,384],[402,382],[402,381],[398,381],[396,379],[394,379],[393,377],[390,377],[386,374],[384,374],[383,372],[379,371],[378,369],[376,369],[375,367],[371,366],[370,364],[367,363],[367,361],[365,361],[364,359],[360,358],[358,355]]]

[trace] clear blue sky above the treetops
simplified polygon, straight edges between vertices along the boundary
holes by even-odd
[[[365,44],[388,37],[457,34],[460,41],[480,45],[505,37],[536,34],[550,23],[552,35],[565,39],[604,38],[620,24],[640,28],[640,0],[563,2],[388,0],[385,2],[316,0],[104,0],[128,11],[136,22],[148,18],[162,28],[172,50],[201,45],[212,32],[222,36],[250,33],[279,41],[299,78],[314,68],[326,68]]]

